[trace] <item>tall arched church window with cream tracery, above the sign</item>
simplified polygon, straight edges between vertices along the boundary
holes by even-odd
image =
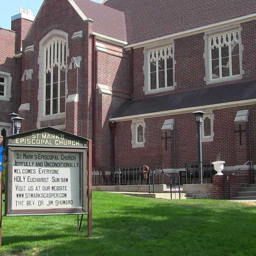
[[[65,112],[66,41],[54,38],[44,46],[44,115]]]

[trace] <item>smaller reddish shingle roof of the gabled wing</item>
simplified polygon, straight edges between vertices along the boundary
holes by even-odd
[[[109,8],[90,0],[74,0],[87,18],[94,20],[94,32],[127,41],[124,12]]]

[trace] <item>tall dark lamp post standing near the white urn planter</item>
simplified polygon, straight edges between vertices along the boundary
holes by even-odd
[[[197,148],[198,148],[198,167],[200,173],[200,183],[203,184],[203,160],[202,160],[202,123],[203,123],[203,115],[205,112],[203,111],[195,111],[193,112],[196,117],[197,124]]]

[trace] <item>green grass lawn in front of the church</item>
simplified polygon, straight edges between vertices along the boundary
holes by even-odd
[[[3,217],[0,255],[256,255],[256,208],[93,192],[93,237],[76,216]]]

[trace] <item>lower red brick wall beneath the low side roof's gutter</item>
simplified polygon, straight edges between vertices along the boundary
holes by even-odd
[[[250,131],[251,131],[251,152],[252,160],[256,161],[256,148],[254,139],[256,136],[256,107],[244,106],[240,108],[225,108],[213,110],[214,114],[214,140],[212,142],[203,142],[203,162],[216,160],[217,154],[220,153],[221,160],[226,161],[226,166],[235,166],[244,164],[249,160],[248,148],[245,147],[245,140],[248,134],[242,132],[243,145],[240,146],[238,140],[239,133],[235,132],[237,126],[234,123],[236,112],[238,110],[250,109]],[[175,123],[175,162],[174,156],[170,152],[169,159],[163,154],[165,140],[161,127],[165,119],[174,118]],[[158,164],[165,161],[164,168],[184,168],[186,163],[196,163],[197,160],[197,131],[194,114],[181,114],[175,116],[164,116],[155,118],[146,118],[145,130],[145,148],[132,148],[132,131],[131,121],[118,122],[116,128],[116,165],[129,164]],[[243,127],[242,127],[243,129]],[[254,139],[253,139],[254,138]],[[248,140],[247,140],[248,141]],[[168,139],[168,148],[172,147],[173,138]],[[248,145],[248,142],[247,144]],[[236,156],[239,152],[239,157]]]

